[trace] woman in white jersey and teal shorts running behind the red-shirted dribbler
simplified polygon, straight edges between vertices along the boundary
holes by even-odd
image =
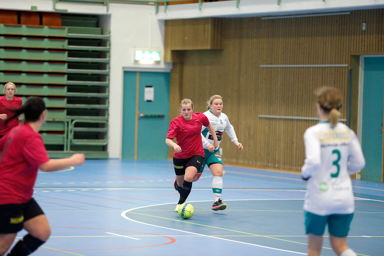
[[[221,193],[223,190],[223,161],[220,155],[220,141],[223,135],[223,131],[227,132],[232,142],[237,146],[238,149],[243,150],[243,145],[238,142],[235,130],[232,124],[230,124],[228,117],[223,112],[223,98],[220,95],[213,95],[207,102],[207,111],[203,114],[208,117],[209,122],[214,126],[216,136],[218,140],[217,148],[213,145],[213,138],[207,127],[202,127],[201,137],[205,152],[203,167],[200,168],[200,172],[197,173],[193,181],[200,178],[205,164],[208,165],[209,169],[214,176],[212,180],[212,191],[214,192],[214,204],[212,210],[224,210],[227,208],[227,204],[222,203]]]

